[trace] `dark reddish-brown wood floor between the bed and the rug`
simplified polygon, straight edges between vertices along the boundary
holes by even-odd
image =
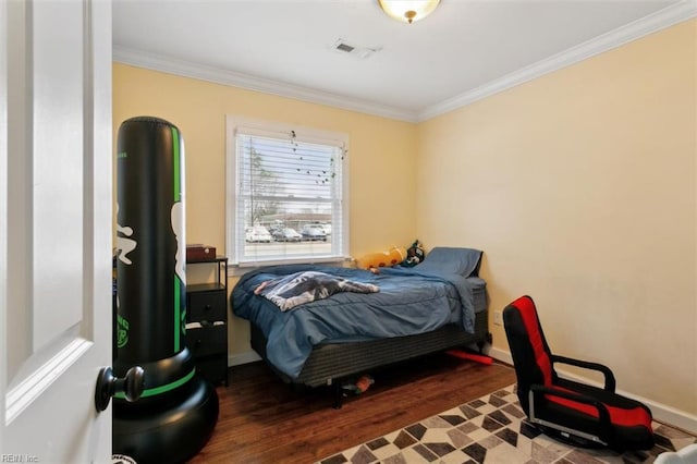
[[[191,462],[308,464],[515,382],[510,366],[444,353],[368,374],[375,384],[334,410],[331,388],[294,390],[261,362],[232,367],[218,425]]]

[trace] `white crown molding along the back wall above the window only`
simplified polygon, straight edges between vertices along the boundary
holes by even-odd
[[[178,76],[207,81],[213,84],[222,84],[247,90],[261,91],[265,94],[277,95],[279,97],[326,105],[333,108],[374,114],[398,121],[416,122],[415,112],[390,108],[359,99],[345,98],[330,93],[314,90],[311,88],[285,84],[248,74],[225,71],[191,61],[175,60],[159,54],[156,56],[140,50],[114,46],[113,61],[137,68],[174,74]]]

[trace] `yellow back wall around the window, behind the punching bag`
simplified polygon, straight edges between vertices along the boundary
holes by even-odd
[[[187,243],[225,253],[225,114],[348,135],[353,256],[416,237],[414,124],[114,63],[114,147],[119,125],[136,115],[162,118],[182,132]],[[231,354],[248,351],[248,339],[246,321],[232,318]]]

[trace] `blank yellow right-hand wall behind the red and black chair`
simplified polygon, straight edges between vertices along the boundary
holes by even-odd
[[[697,22],[418,126],[417,235],[485,251],[552,350],[697,414]],[[508,352],[492,327],[494,350]]]

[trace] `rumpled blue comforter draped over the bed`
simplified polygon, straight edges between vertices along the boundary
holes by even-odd
[[[477,252],[478,266],[481,252]],[[458,323],[474,333],[472,270],[442,266],[381,268],[379,274],[362,269],[314,265],[284,265],[243,276],[231,295],[233,313],[253,321],[267,338],[267,358],[280,371],[297,378],[313,346],[331,341],[402,337]],[[375,284],[377,293],[342,292],[282,312],[255,295],[265,281],[303,271],[327,272],[356,282]]]

